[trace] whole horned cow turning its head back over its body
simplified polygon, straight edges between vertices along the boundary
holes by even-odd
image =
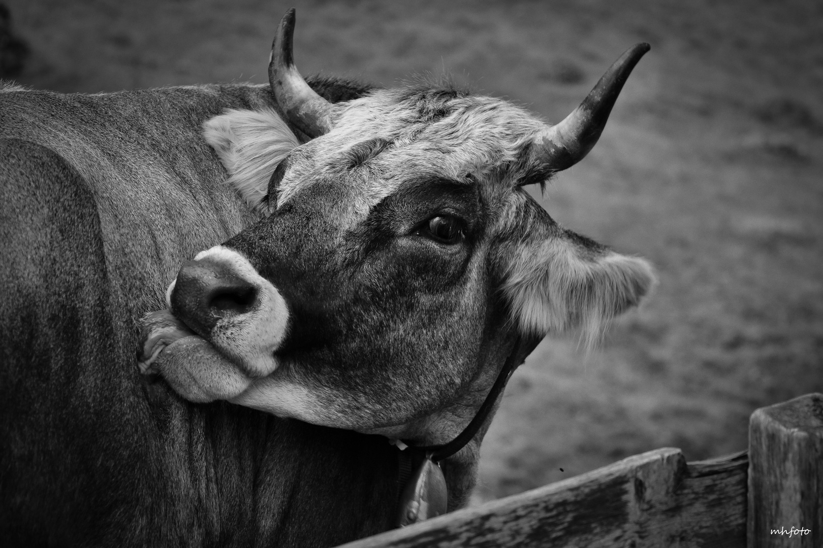
[[[456,509],[501,371],[649,292],[524,190],[591,150],[647,45],[550,127],[304,80],[293,28],[269,85],[0,90],[4,546],[335,546],[396,527],[402,448],[472,422],[437,465]]]

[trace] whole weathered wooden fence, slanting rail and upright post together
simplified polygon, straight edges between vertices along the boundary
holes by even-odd
[[[345,548],[823,548],[823,394],[752,413],[749,450],[657,449]]]

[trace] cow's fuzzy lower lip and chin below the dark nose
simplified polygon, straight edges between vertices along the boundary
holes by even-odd
[[[252,383],[238,366],[196,335],[171,343],[156,357],[154,366],[175,392],[195,403],[234,398]]]

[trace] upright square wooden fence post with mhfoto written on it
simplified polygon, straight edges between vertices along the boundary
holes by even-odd
[[[751,414],[748,548],[823,546],[823,394]]]

